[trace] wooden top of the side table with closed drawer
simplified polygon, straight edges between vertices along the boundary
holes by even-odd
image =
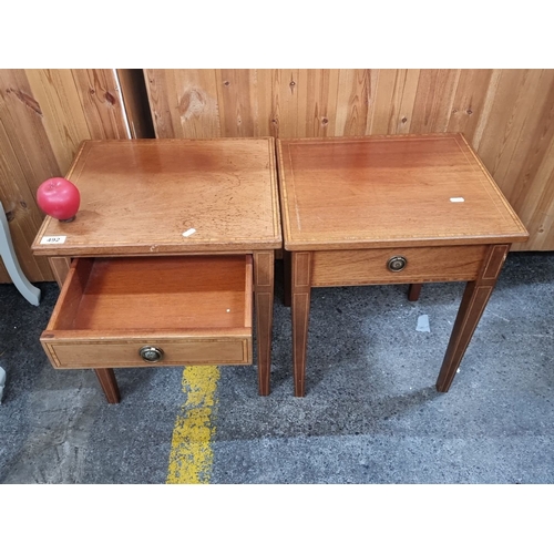
[[[277,140],[277,156],[288,250],[529,237],[461,133]]]

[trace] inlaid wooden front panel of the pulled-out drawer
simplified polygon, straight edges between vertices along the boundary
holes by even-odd
[[[57,369],[124,368],[186,365],[249,365],[252,338],[205,338],[173,340],[51,340],[42,346]],[[145,361],[140,351],[150,346],[161,349],[158,361]]]

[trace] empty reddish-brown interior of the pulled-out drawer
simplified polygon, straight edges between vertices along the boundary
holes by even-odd
[[[252,327],[250,255],[74,259],[48,330]]]

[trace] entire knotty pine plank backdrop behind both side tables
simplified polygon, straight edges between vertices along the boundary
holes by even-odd
[[[40,183],[86,138],[463,132],[531,238],[554,249],[554,70],[0,70],[0,201],[31,281]],[[0,263],[0,283],[9,283]]]

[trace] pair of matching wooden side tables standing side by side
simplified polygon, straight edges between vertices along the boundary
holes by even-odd
[[[285,260],[295,396],[312,287],[468,281],[437,388],[448,391],[510,246],[527,232],[462,134],[85,141],[71,223],[33,243],[61,286],[54,368],[253,363],[269,393],[274,267]]]

